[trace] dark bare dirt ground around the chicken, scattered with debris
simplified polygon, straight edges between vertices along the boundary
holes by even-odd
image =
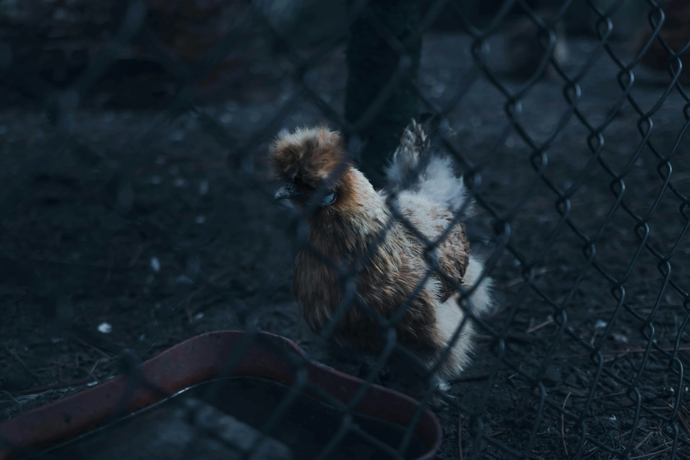
[[[574,76],[596,43],[583,39],[568,44],[566,71]],[[502,37],[489,45],[489,62],[500,71]],[[426,37],[420,79],[426,97],[440,104],[453,97],[471,66],[468,50],[469,39],[460,35]],[[623,43],[615,44],[614,50],[629,57]],[[337,108],[344,99],[343,59],[343,51],[336,50],[307,75],[314,89]],[[265,71],[279,73],[275,66]],[[578,107],[593,126],[604,120],[622,94],[617,70],[602,55],[580,81]],[[644,72],[642,77],[631,94],[641,110],[651,110],[664,94],[664,81]],[[513,89],[519,85],[506,84]],[[283,83],[243,99],[208,103],[204,110],[228,132],[246,139],[246,133],[262,128],[293,90]],[[97,159],[85,157],[78,148],[56,154],[59,140],[41,108],[14,90],[1,91],[9,102],[0,112],[0,193],[10,199],[0,205],[0,420],[117,374],[117,353],[108,345],[92,346],[93,341],[84,337],[132,348],[148,359],[201,332],[244,328],[253,321],[262,330],[297,341],[329,366],[357,372],[309,343],[297,327],[290,288],[292,214],[271,199],[276,184],[264,161],[266,143],[253,150],[240,170],[233,170],[228,168],[227,148],[199,117],[186,114],[147,132],[159,113],[155,110],[86,104],[76,113],[75,132]],[[681,293],[687,292],[690,274],[690,246],[684,241],[687,210],[670,190],[659,196],[664,183],[660,173],[666,170],[650,148],[635,158],[642,139],[640,116],[626,102],[603,131],[602,159],[617,172],[630,163],[623,203],[644,218],[649,248],[661,257],[675,249],[669,263],[676,288],[662,289],[666,266],[660,259],[648,248],[635,259],[642,241],[635,232],[638,222],[620,207],[609,218],[615,203],[611,174],[595,163],[580,177],[592,157],[583,123],[575,117],[567,121],[545,152],[548,163],[542,165],[542,176],[560,190],[578,186],[578,178],[582,181],[570,200],[571,227],[560,223],[557,196],[539,178],[539,159],[531,159],[531,149],[517,134],[510,134],[492,152],[506,126],[505,101],[488,79],[480,78],[449,115],[453,145],[469,161],[484,165],[479,186],[483,199],[501,213],[513,212],[520,204],[513,212],[509,249],[501,246],[486,210],[480,207],[469,223],[473,252],[488,258],[501,251],[491,272],[496,308],[487,322],[495,330],[507,328],[505,363],[491,380],[493,387],[487,388],[497,349],[490,334],[482,332],[473,365],[453,383],[450,394],[470,408],[486,396],[484,430],[505,446],[517,451],[531,448],[535,459],[571,458],[580,441],[573,420],[566,417],[562,426],[560,413],[547,404],[534,428],[539,393],[507,363],[535,375],[551,356],[542,379],[546,399],[579,416],[597,370],[586,344],[598,343],[618,304],[613,279],[623,280],[624,306],[602,344],[604,368],[620,379],[635,379],[650,331],[642,328],[643,321],[652,313],[655,344],[671,350],[679,340],[678,363],[690,363],[684,333],[689,315]],[[686,123],[685,103],[672,90],[653,113],[650,141],[662,156],[671,152]],[[543,142],[567,108],[562,79],[547,79],[527,92],[518,119],[533,139]],[[302,100],[282,124],[290,128],[316,121],[327,120],[313,103]],[[671,182],[685,196],[688,150],[686,135],[671,161]],[[122,217],[114,211],[117,205],[112,203],[120,201],[114,198],[111,179],[133,159],[134,194]],[[24,175],[27,168],[35,174]],[[22,177],[28,179],[26,186],[6,195]],[[584,250],[582,235],[595,240],[595,266],[588,263],[590,252]],[[524,286],[521,263],[534,264],[532,288]],[[559,334],[551,316],[553,305],[546,299],[560,303],[571,290],[565,306],[569,333]],[[72,333],[61,327],[65,320]],[[632,457],[651,451],[659,454],[646,458],[667,458],[670,451],[662,444],[670,446],[669,438],[658,430],[663,422],[650,411],[668,416],[669,403],[679,390],[684,401],[686,385],[669,370],[669,357],[653,350],[636,383],[649,410],[640,412]],[[630,441],[636,401],[625,390],[620,381],[602,374],[584,418],[589,434],[611,448]],[[437,458],[460,458],[459,421],[466,455],[469,417],[459,417],[451,406],[434,410],[444,428]],[[682,410],[680,416],[690,420],[690,412]],[[678,423],[681,437],[690,435],[684,426],[687,423]],[[535,441],[528,446],[533,430]],[[614,458],[591,443],[582,452],[581,458]],[[676,458],[690,458],[688,452],[680,448]],[[489,445],[480,458],[513,457]]]

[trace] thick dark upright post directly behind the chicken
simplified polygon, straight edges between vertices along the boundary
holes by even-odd
[[[371,0],[367,8],[401,42],[420,26],[420,0]],[[422,38],[417,37],[413,43],[407,43],[406,50],[411,59],[408,74],[416,83]],[[351,26],[346,55],[345,117],[355,123],[391,79],[400,61],[400,54],[391,48],[363,15]],[[382,170],[386,160],[400,142],[404,128],[418,112],[417,97],[401,79],[373,121],[359,132],[364,142],[359,166],[375,188],[384,185]]]

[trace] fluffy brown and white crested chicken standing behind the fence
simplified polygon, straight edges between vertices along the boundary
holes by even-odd
[[[430,155],[426,168],[408,186],[406,177],[425,154]],[[386,200],[395,202],[402,216],[424,237],[436,239],[452,223],[454,212],[470,204],[462,179],[455,177],[451,159],[432,155],[422,128],[414,122],[404,132],[386,168],[388,191],[374,190],[364,174],[348,162],[342,137],[328,128],[299,128],[279,134],[269,159],[275,172],[287,182],[275,194],[278,200],[290,199],[304,208],[319,186],[330,184],[314,197],[320,201],[308,217],[308,243],[334,263],[348,270],[358,269],[354,286],[357,301],[386,319],[406,306],[404,315],[395,323],[397,340],[432,366],[464,318],[456,283],[471,288],[480,279],[482,262],[470,254],[464,225],[455,223],[431,252],[437,257],[438,268],[456,283],[432,274],[413,297],[428,271],[425,246],[404,223],[393,219]],[[337,178],[331,177],[339,165],[344,169],[336,171],[340,173]],[[376,249],[367,252],[377,239]],[[370,257],[360,266],[362,254]],[[344,297],[341,284],[333,266],[313,250],[305,248],[297,254],[293,288],[312,330],[321,330],[333,316]],[[490,286],[491,279],[484,278],[471,294],[475,314],[489,309]],[[465,308],[469,305],[466,299],[462,303]],[[447,380],[460,374],[469,362],[473,331],[472,321],[466,321],[451,354],[435,373],[442,388],[447,388]],[[383,344],[379,326],[355,305],[339,321],[334,338],[344,346],[353,344],[373,352]]]

